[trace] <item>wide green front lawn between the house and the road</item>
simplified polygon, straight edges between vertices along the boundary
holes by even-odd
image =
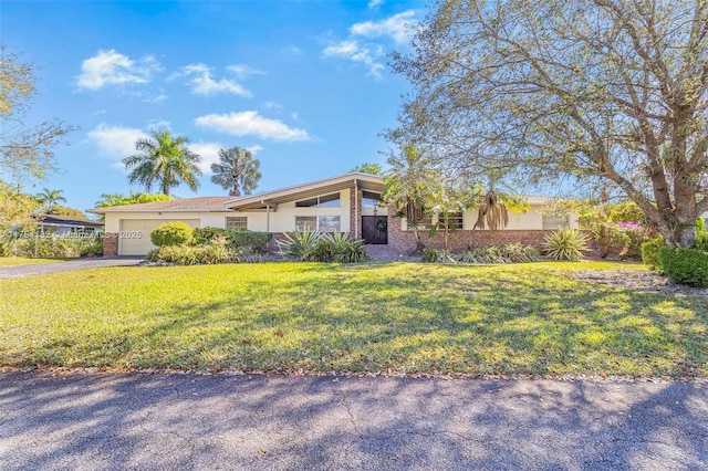
[[[708,376],[708,299],[563,276],[592,268],[627,265],[272,263],[10,279],[0,365]]]

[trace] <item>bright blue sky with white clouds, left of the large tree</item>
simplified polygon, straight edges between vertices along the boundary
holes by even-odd
[[[218,1],[0,3],[0,39],[41,67],[28,122],[80,127],[55,149],[61,171],[29,182],[67,205],[127,193],[121,159],[168,128],[204,158],[197,193],[227,195],[208,168],[221,147],[251,148],[267,191],[381,163],[406,81],[386,54],[406,51],[425,3]]]

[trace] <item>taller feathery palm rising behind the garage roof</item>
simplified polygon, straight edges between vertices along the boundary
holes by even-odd
[[[138,151],[123,159],[125,168],[132,170],[131,184],[138,182],[150,191],[156,182],[163,193],[185,182],[192,191],[199,187],[197,177],[201,170],[197,166],[201,157],[187,148],[189,139],[184,136],[173,137],[169,130],[152,130],[153,138],[140,138],[135,142]]]

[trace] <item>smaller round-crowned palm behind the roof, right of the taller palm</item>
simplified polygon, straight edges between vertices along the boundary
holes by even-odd
[[[248,149],[219,149],[219,163],[211,164],[211,181],[229,190],[229,196],[250,195],[261,179],[260,166]]]

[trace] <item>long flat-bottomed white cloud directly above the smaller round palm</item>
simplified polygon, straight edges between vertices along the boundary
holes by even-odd
[[[261,139],[288,142],[311,139],[305,129],[290,127],[281,121],[263,117],[256,111],[199,116],[195,119],[195,124],[233,136],[258,136]]]

